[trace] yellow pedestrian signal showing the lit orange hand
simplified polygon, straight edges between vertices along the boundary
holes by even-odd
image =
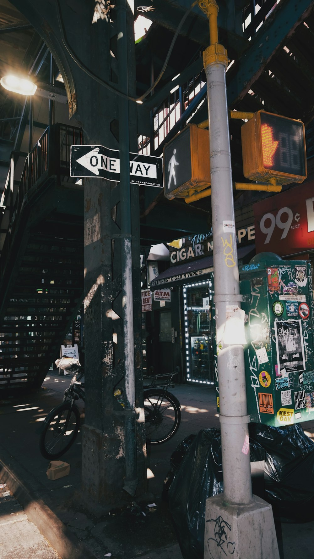
[[[243,174],[253,181],[303,182],[307,177],[305,127],[265,111],[241,127]]]

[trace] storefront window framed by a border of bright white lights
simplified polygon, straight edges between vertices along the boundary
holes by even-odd
[[[212,282],[183,286],[186,378],[214,384]]]

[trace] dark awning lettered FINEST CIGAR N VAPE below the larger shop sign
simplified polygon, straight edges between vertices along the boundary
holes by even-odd
[[[248,245],[247,247],[238,248],[238,260],[243,259],[249,253],[255,254],[255,245]],[[189,260],[184,264],[178,266],[171,266],[165,272],[162,272],[151,281],[151,290],[158,287],[167,287],[168,285],[186,283],[189,280],[197,280],[197,278],[204,278],[206,274],[213,271],[214,258],[212,256],[205,256],[198,260]]]

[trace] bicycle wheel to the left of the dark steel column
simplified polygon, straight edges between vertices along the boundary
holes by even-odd
[[[71,402],[63,402],[47,415],[40,434],[39,448],[47,459],[59,458],[74,443],[80,428],[80,412]]]

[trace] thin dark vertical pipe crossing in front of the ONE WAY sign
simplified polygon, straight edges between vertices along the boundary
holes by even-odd
[[[117,2],[119,86],[128,94],[127,6]],[[122,232],[122,290],[125,362],[125,481],[123,489],[134,495],[138,484],[136,456],[135,369],[132,281],[131,188],[129,101],[119,97],[120,200]]]

